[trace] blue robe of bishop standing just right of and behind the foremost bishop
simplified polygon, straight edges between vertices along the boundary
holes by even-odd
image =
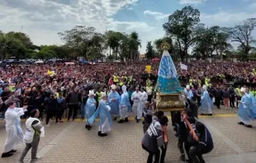
[[[115,101],[112,101],[112,99],[116,99]],[[111,115],[119,115],[119,104],[121,97],[117,92],[110,92],[107,95],[108,105],[111,107],[110,114]]]

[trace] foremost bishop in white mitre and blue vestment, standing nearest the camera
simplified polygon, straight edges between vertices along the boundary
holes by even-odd
[[[112,120],[111,120],[111,115],[109,114],[110,110],[111,110],[111,107],[107,105],[107,95],[105,92],[102,92],[102,100],[100,100],[97,110],[89,119],[89,123],[93,123],[94,120],[97,118],[97,115],[99,114],[100,123],[99,123],[98,133],[97,133],[99,137],[106,137],[107,136],[106,132],[111,131]]]

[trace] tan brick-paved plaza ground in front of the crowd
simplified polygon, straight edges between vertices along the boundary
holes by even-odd
[[[225,114],[218,114],[225,112]],[[213,117],[200,117],[210,129],[215,148],[204,156],[210,163],[253,163],[256,162],[256,123],[254,128],[245,128],[237,122],[239,118],[235,110],[217,110]],[[108,163],[108,162],[140,162],[145,163],[147,153],[141,148],[143,137],[142,123],[135,123],[130,118],[129,123],[114,122],[111,133],[107,137],[97,136],[98,120],[92,125],[92,130],[84,128],[85,121],[64,122],[50,128],[45,128],[45,137],[40,139],[38,156],[39,163]],[[0,121],[0,146],[2,151],[6,139],[5,123]],[[22,123],[24,129],[24,123]],[[166,163],[178,163],[178,138],[174,137],[173,128],[168,127],[168,151]],[[17,146],[17,153],[10,158],[0,158],[1,163],[14,163],[22,151],[22,144]],[[26,162],[30,161],[30,154]]]

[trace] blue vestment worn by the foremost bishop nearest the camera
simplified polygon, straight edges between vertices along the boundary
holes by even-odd
[[[100,123],[99,123],[100,126],[102,126],[102,124],[106,121],[106,119],[108,119],[108,123],[110,125],[112,124],[111,115],[109,114],[109,111],[106,105],[106,100],[100,100],[97,110],[89,119],[89,123],[93,123],[94,120],[97,118],[97,115],[100,116]]]

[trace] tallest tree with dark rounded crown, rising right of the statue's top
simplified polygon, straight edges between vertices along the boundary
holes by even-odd
[[[180,47],[181,59],[186,58],[187,50],[196,39],[195,27],[200,22],[200,12],[191,6],[183,7],[168,17],[164,23],[166,35],[173,37]]]

